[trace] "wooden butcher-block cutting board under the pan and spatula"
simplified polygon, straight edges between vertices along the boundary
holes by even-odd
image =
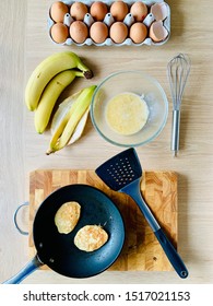
[[[168,259],[134,201],[110,190],[94,170],[39,169],[29,175],[29,254],[35,255],[32,225],[35,212],[54,190],[70,184],[87,184],[106,192],[118,205],[125,224],[125,247],[109,268],[116,271],[170,271]],[[174,172],[144,172],[141,192],[155,217],[177,247],[177,174]],[[45,269],[48,269],[45,266]]]

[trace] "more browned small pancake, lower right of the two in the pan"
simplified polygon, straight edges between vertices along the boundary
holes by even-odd
[[[98,225],[86,225],[79,229],[74,245],[85,251],[94,251],[108,240],[108,234]]]

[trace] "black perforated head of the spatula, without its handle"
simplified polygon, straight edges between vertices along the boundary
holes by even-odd
[[[95,173],[115,191],[119,191],[142,176],[142,167],[133,148],[102,164]]]

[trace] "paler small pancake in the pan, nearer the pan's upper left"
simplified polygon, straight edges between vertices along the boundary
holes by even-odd
[[[78,202],[62,204],[55,215],[55,224],[60,234],[69,234],[80,219],[81,205]]]

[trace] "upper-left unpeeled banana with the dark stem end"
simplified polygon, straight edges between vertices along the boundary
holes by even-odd
[[[93,72],[79,56],[71,51],[54,54],[43,60],[33,71],[26,84],[25,103],[27,108],[35,110],[48,82],[59,72],[73,68],[82,71],[86,79],[93,76]]]

